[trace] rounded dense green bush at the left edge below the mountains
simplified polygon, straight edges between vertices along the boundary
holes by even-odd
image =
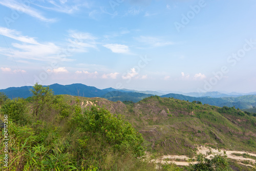
[[[26,124],[28,123],[27,116],[27,102],[25,99],[13,99],[7,100],[2,106],[1,111],[3,115],[8,115],[8,118],[12,119],[13,122]]]

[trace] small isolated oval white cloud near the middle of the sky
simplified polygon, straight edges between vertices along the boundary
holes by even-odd
[[[169,41],[163,41],[157,37],[152,37],[152,36],[139,36],[136,37],[135,40],[138,42],[142,42],[147,45],[151,45],[153,47],[161,47],[161,46],[167,46],[167,45],[173,45],[173,42]]]

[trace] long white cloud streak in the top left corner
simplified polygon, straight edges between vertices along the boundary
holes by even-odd
[[[56,21],[54,18],[46,18],[38,10],[32,8],[29,1],[23,1],[23,2],[26,2],[26,3],[20,3],[20,1],[18,2],[15,0],[2,0],[2,1],[0,1],[0,4],[12,9],[12,10],[18,11],[19,13],[24,12],[24,13],[26,13],[32,17],[35,17],[38,20],[44,21],[44,22],[55,22]]]

